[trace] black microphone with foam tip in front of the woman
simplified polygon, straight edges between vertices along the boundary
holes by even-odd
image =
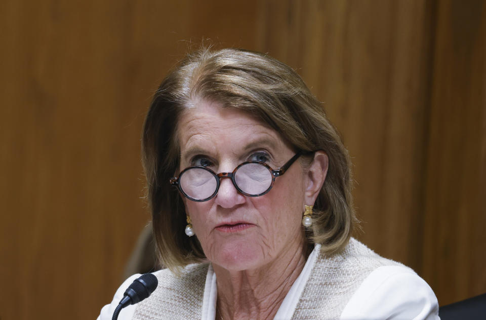
[[[124,293],[124,297],[118,303],[115,311],[113,312],[113,317],[111,320],[116,320],[121,309],[128,305],[138,303],[145,298],[148,298],[150,294],[157,288],[157,277],[152,273],[142,274],[139,278],[128,287]]]

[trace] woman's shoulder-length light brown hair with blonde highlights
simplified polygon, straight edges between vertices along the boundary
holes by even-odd
[[[349,241],[355,218],[348,152],[321,103],[289,66],[262,53],[204,48],[188,54],[155,92],[142,133],[147,201],[160,262],[173,271],[205,259],[197,237],[184,233],[182,196],[169,180],[179,171],[178,119],[197,101],[249,112],[296,151],[323,150],[326,180],[317,196],[309,244],[330,255]],[[303,165],[309,158],[302,157]]]

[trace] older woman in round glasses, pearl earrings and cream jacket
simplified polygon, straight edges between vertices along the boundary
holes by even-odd
[[[438,318],[413,270],[351,237],[347,151],[285,64],[236,49],[188,55],[155,93],[143,163],[167,268],[120,319]]]

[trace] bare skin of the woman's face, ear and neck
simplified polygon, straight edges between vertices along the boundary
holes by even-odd
[[[277,169],[295,152],[251,115],[198,101],[179,119],[180,170],[206,166],[232,172],[250,160]],[[239,193],[223,178],[207,202],[183,198],[195,235],[217,275],[219,313],[231,318],[272,318],[306,259],[301,225],[304,204],[313,205],[327,172],[327,155],[316,152],[304,168],[296,161],[258,197]]]

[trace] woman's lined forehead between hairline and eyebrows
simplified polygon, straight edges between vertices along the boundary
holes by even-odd
[[[248,112],[204,101],[181,114],[177,138],[182,154],[194,148],[219,153],[223,147],[236,150],[257,141],[274,147],[285,144],[275,130]]]

